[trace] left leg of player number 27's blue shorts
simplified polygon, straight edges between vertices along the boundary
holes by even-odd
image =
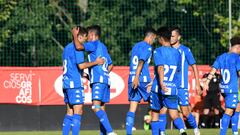
[[[150,108],[155,111],[160,111],[162,108],[162,97],[156,92],[150,93]]]

